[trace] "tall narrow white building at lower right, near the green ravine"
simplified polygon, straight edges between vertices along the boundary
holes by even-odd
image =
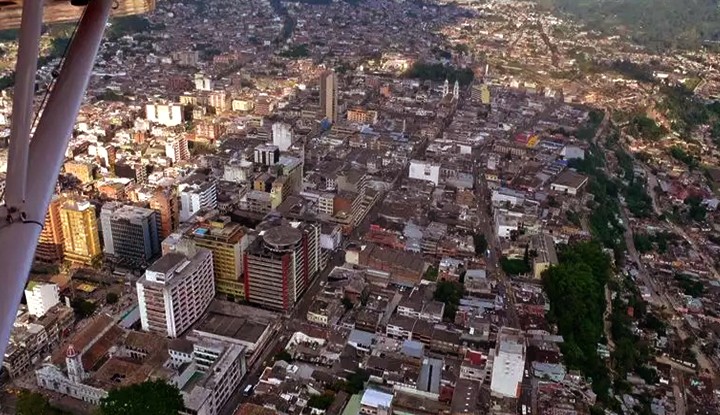
[[[525,371],[525,339],[519,330],[503,327],[495,346],[490,393],[501,398],[517,398]]]

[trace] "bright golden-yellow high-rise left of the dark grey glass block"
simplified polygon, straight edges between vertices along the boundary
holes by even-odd
[[[60,222],[65,259],[91,265],[102,254],[95,207],[87,201],[66,201],[60,207]]]

